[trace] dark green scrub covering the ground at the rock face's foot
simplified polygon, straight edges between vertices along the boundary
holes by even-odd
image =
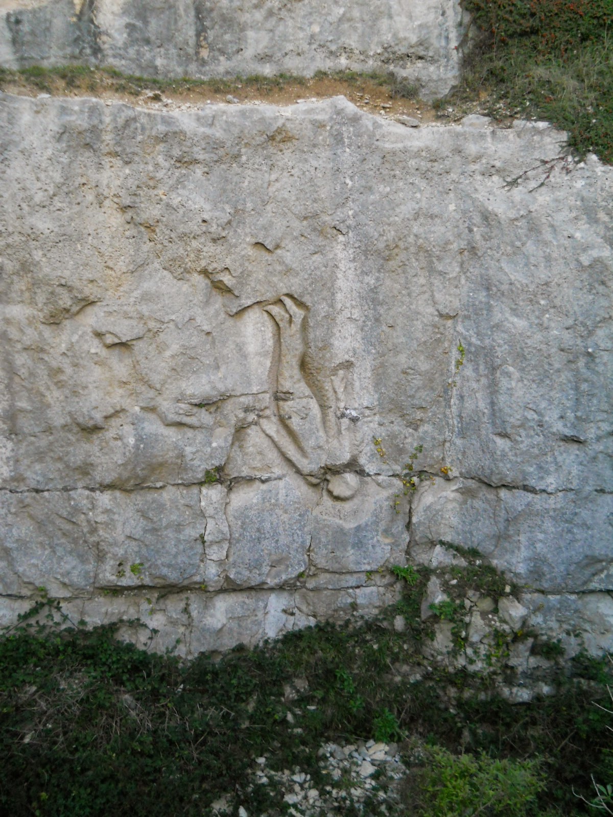
[[[555,694],[513,705],[490,677],[427,666],[422,592],[423,580],[406,583],[376,620],[190,662],[119,642],[116,626],[67,627],[60,605],[43,598],[36,618],[0,640],[0,812],[212,815],[230,794],[232,814],[241,804],[249,817],[286,814],[274,785],[249,783],[257,757],[273,770],[299,766],[322,788],[324,742],[374,738],[400,744],[402,805],[360,810],[347,795],[338,813],[597,813],[577,795],[593,801],[592,775],[613,780],[610,664],[560,663]],[[403,632],[399,614],[409,619]]]

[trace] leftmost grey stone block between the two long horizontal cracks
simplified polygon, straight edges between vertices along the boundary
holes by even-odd
[[[2,492],[2,593],[204,581],[197,486]]]

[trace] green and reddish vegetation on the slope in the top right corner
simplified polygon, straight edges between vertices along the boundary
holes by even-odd
[[[478,33],[446,101],[484,97],[485,112],[536,116],[570,146],[613,163],[611,0],[465,0]]]

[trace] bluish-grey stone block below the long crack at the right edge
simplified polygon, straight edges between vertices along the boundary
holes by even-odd
[[[439,539],[476,547],[519,582],[546,592],[613,587],[611,493],[435,481],[419,488],[413,503],[416,551]]]

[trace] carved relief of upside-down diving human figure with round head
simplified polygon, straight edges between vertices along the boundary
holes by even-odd
[[[270,416],[260,417],[260,427],[305,479],[318,483],[332,470],[329,492],[350,499],[360,480],[353,473],[338,473],[351,460],[351,425],[356,420],[344,405],[347,366],[330,382],[315,374],[308,359],[309,310],[298,298],[282,295],[263,310],[271,316],[275,345]]]

